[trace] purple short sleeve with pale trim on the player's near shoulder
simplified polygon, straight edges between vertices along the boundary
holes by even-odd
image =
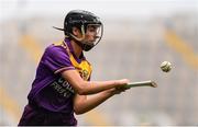
[[[54,73],[75,69],[70,62],[69,55],[62,46],[51,45],[45,49],[42,62]]]

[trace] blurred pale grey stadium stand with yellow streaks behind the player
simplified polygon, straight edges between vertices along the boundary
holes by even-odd
[[[77,116],[79,125],[198,125],[197,0],[0,0],[0,125],[16,125],[44,48],[65,14],[99,15],[105,35],[87,58],[92,80],[154,80]],[[164,73],[160,64],[173,64]]]

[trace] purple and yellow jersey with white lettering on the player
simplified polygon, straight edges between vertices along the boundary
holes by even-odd
[[[90,79],[90,64],[85,59],[84,54],[80,59],[74,55],[69,41],[50,45],[38,64],[28,99],[29,105],[52,113],[65,114],[64,120],[68,120],[69,125],[76,125],[73,107],[75,91],[61,77],[63,71],[72,69],[78,70],[84,80]]]

